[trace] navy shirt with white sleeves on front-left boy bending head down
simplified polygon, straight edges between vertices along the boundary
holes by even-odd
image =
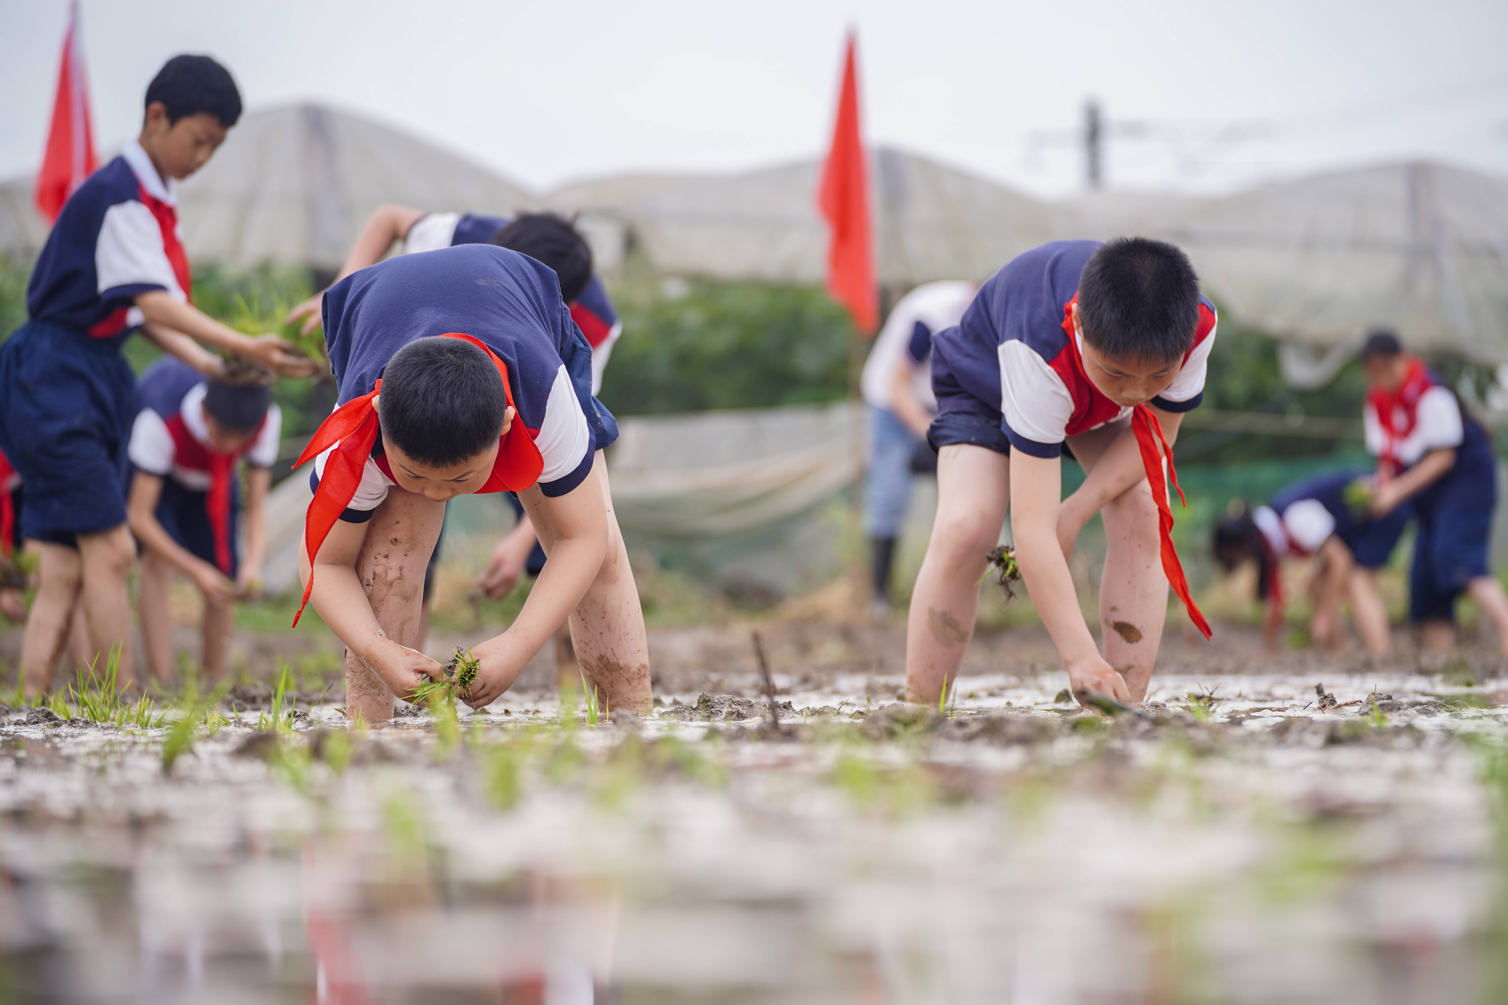
[[[564,496],[581,485],[594,451],[606,446],[602,417],[611,422],[611,414],[591,398],[590,347],[561,303],[555,273],[526,255],[460,244],[391,258],[335,283],[324,294],[324,333],[339,404],[369,393],[409,342],[449,331],[481,341],[507,365],[514,422],[544,461],[540,490]],[[591,422],[588,410],[599,413]],[[368,460],[348,511],[375,509],[392,484]]]

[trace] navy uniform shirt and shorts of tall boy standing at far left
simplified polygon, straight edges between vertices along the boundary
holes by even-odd
[[[0,451],[26,481],[26,536],[71,545],[125,523],[136,380],[121,344],[142,322],[134,297],[188,288],[175,187],[133,140],[63,205],[30,319],[0,347]]]

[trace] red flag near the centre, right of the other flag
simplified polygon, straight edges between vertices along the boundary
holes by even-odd
[[[869,225],[869,170],[858,136],[858,72],[855,39],[847,38],[843,90],[832,127],[832,149],[822,167],[817,208],[828,220],[828,292],[854,315],[864,334],[879,327],[879,297],[875,286],[875,249]]]

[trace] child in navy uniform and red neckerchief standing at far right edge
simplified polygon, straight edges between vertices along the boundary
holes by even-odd
[[[1455,393],[1392,331],[1362,347],[1366,449],[1377,457],[1372,512],[1413,503],[1416,521],[1408,618],[1425,649],[1455,645],[1455,601],[1470,594],[1508,654],[1508,594],[1487,568],[1497,458],[1491,437]]]

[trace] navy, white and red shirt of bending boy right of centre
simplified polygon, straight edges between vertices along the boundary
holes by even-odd
[[[980,286],[958,327],[932,339],[932,389],[938,411],[998,422],[1010,449],[1059,457],[1063,441],[1125,419],[1084,375],[1081,339],[1069,306],[1099,241],[1053,241],[1025,252]],[[1199,327],[1173,383],[1152,404],[1190,411],[1203,398],[1215,309],[1199,298]]]

